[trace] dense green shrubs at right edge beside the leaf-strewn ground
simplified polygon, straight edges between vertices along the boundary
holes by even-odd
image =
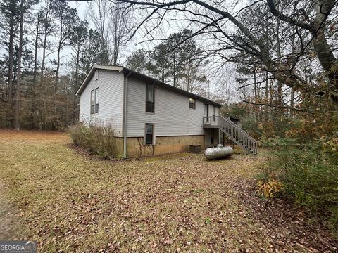
[[[294,141],[294,145],[291,143]],[[338,222],[338,157],[336,138],[326,138],[296,145],[291,138],[270,141],[277,152],[262,167],[258,179],[263,183],[277,180],[283,183],[283,194],[298,207],[317,214],[331,214]],[[333,147],[332,147],[333,146]],[[263,186],[261,183],[261,186]]]

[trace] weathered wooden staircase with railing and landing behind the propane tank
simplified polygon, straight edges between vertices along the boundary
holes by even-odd
[[[227,117],[204,117],[204,127],[219,128],[246,153],[257,154],[257,141]]]

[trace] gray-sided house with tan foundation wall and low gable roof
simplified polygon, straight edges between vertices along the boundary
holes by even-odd
[[[124,157],[219,143],[219,103],[126,67],[94,65],[76,95],[80,122],[113,126]]]

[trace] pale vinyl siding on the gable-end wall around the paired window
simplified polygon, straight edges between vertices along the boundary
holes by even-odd
[[[94,74],[80,96],[80,122],[85,124],[110,124],[123,136],[123,73],[98,70],[99,79]],[[99,113],[90,115],[90,92],[99,87]]]

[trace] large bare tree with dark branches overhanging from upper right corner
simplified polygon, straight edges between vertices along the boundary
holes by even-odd
[[[294,2],[290,1],[254,1],[244,6],[237,12],[230,13],[225,11],[225,6],[221,1],[201,1],[201,0],[177,0],[177,1],[133,1],[133,0],[116,0],[124,2],[130,6],[144,6],[149,15],[146,15],[142,24],[151,24],[153,16],[160,15],[158,24],[162,22],[163,17],[170,11],[179,11],[183,15],[185,22],[189,25],[196,25],[198,29],[192,34],[196,37],[200,34],[208,34],[217,42],[214,47],[206,49],[208,56],[220,56],[225,60],[237,60],[233,56],[224,53],[225,50],[231,49],[238,51],[256,59],[257,65],[261,70],[270,72],[274,79],[282,84],[292,87],[293,89],[308,89],[306,80],[301,73],[297,71],[297,65],[308,51],[313,52],[325,70],[327,78],[330,79],[332,98],[338,103],[338,96],[335,94],[338,90],[338,67],[337,58],[334,56],[332,46],[327,42],[327,27],[332,24],[334,11],[337,11],[337,3],[334,0],[320,1],[303,1],[299,2],[296,10],[294,10]],[[265,2],[265,3],[264,3]],[[297,1],[298,2],[298,1]],[[266,11],[266,17],[261,18],[259,22],[271,22],[271,20],[279,20],[284,27],[289,29],[296,27],[299,31],[299,50],[293,55],[285,53],[278,58],[273,51],[270,51],[270,41],[273,37],[264,32],[252,30],[248,25],[239,19],[242,11],[247,9],[262,7]],[[278,7],[280,6],[280,7]],[[283,10],[283,12],[278,10]],[[284,14],[287,13],[287,14]],[[232,27],[236,27],[237,31],[227,29],[228,22],[232,23]],[[276,21],[275,21],[276,23]],[[253,24],[256,25],[256,24]],[[268,28],[268,25],[266,25]],[[310,33],[310,37],[306,34]]]

